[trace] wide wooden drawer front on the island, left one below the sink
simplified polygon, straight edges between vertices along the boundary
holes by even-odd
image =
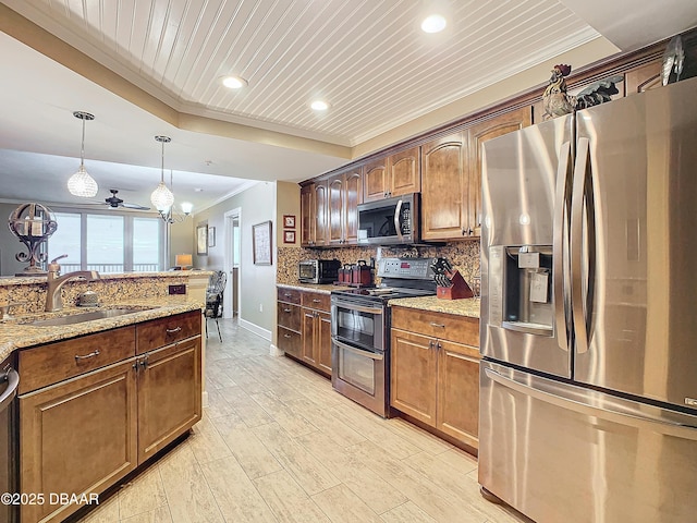
[[[135,326],[20,352],[20,393],[40,389],[135,355]]]

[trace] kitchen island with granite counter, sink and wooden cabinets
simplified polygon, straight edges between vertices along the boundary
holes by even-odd
[[[22,506],[22,521],[62,521],[200,419],[209,275],[68,281],[54,312],[42,311],[46,278],[0,279],[0,354],[20,377],[19,491],[73,495]],[[99,306],[76,306],[87,290]]]

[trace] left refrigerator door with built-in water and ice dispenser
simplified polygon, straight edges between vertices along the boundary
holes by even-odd
[[[570,377],[564,313],[573,117],[484,144],[482,355]]]

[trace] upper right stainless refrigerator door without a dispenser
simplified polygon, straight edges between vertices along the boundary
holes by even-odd
[[[577,126],[574,378],[697,409],[697,78]]]

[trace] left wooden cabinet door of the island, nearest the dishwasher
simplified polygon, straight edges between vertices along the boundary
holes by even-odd
[[[21,491],[46,500],[23,506],[22,521],[62,521],[78,507],[49,503],[51,492],[99,494],[136,467],[134,361],[20,398]]]

